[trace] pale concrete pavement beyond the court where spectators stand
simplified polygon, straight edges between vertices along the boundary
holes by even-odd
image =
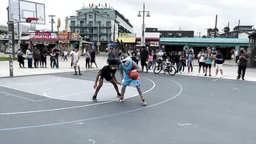
[[[47,66],[48,68],[37,68],[37,69],[21,69],[18,66],[18,62],[14,62],[14,76],[21,76],[21,75],[40,75],[40,74],[49,74],[49,73],[59,73],[59,72],[73,72],[74,69],[70,67],[70,57],[68,58],[69,61],[63,62],[59,61],[59,68],[60,69],[50,69],[50,60],[49,57],[47,58]],[[96,57],[96,62],[98,63],[98,69],[101,69],[104,65],[106,65],[107,61],[107,56],[97,56]],[[27,60],[25,60],[25,66],[27,66]],[[85,70],[85,58],[82,57],[80,59],[80,66],[82,70]],[[8,62],[0,62],[0,77],[8,77],[9,76],[9,66]],[[215,70],[216,68],[212,68],[212,75],[215,75]],[[237,64],[233,60],[226,60],[224,66],[223,66],[223,78],[227,79],[235,79],[237,76]],[[153,72],[150,70],[149,72]],[[195,60],[194,62],[194,72],[193,76],[202,76],[203,77],[203,72],[201,72],[201,75],[198,74],[198,62]],[[256,69],[247,69],[246,74],[245,74],[245,80],[246,81],[251,81],[251,82],[256,82]],[[177,75],[188,75],[187,74],[187,68],[185,68],[184,74],[177,74]],[[220,75],[219,75],[220,76]],[[218,77],[212,77],[212,78],[219,78]]]

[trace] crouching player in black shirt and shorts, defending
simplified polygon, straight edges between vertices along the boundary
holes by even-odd
[[[107,82],[111,82],[114,85],[114,88],[117,91],[117,97],[119,98],[121,96],[119,90],[118,90],[118,86],[117,85],[121,85],[119,82],[117,82],[117,78],[115,76],[117,72],[117,60],[113,59],[110,60],[108,62],[107,66],[104,66],[99,72],[98,75],[96,76],[96,80],[95,80],[95,84],[94,84],[94,89],[95,93],[92,97],[92,101],[97,101],[97,94],[98,91],[100,91],[101,86],[103,85],[103,79],[105,78],[105,80]],[[98,84],[99,82],[99,84]]]

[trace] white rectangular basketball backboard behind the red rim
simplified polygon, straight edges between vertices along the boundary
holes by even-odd
[[[38,18],[34,24],[46,24],[45,5],[25,0],[9,1],[9,21],[26,22],[27,18]]]

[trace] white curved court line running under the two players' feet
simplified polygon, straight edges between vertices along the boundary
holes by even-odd
[[[139,76],[140,78],[145,78],[142,76]],[[152,88],[150,88],[149,90],[143,92],[143,94],[148,93],[149,91],[152,91],[155,88],[155,82],[153,82],[151,79],[149,78],[145,78],[147,80],[149,80],[150,82],[152,82],[153,86]],[[134,94],[130,97],[127,98],[133,98],[138,96],[139,94]],[[116,100],[114,100],[116,101]],[[55,109],[46,109],[46,110],[31,110],[31,111],[20,111],[20,112],[11,112],[11,113],[2,113],[0,115],[11,115],[11,114],[32,114],[32,113],[42,113],[42,112],[48,112],[48,111],[56,111],[56,110],[70,110],[70,109],[75,109],[75,108],[81,108],[81,107],[90,107],[90,106],[94,106],[94,105],[99,105],[99,104],[107,104],[107,103],[111,103],[114,101],[105,101],[105,102],[101,102],[101,103],[95,103],[95,104],[86,104],[86,105],[79,105],[79,106],[75,106],[75,107],[62,107],[62,108],[55,108]]]

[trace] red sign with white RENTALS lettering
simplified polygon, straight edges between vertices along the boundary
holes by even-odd
[[[30,40],[57,40],[57,34],[50,32],[33,32],[30,33]]]

